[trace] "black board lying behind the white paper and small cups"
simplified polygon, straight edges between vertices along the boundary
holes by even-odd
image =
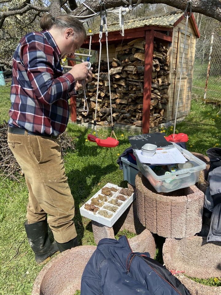
[[[165,140],[164,136],[166,136],[164,132],[155,132],[128,136],[128,139],[130,141],[132,148],[139,150],[145,144],[156,144],[157,148],[171,146],[171,143]]]

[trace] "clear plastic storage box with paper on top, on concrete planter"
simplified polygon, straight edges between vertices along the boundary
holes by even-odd
[[[180,188],[190,187],[199,180],[200,171],[206,168],[206,163],[195,157],[191,152],[181,148],[177,144],[173,145],[184,155],[186,159],[194,164],[194,167],[188,169],[181,169],[173,173],[166,173],[165,175],[158,176],[147,164],[142,164],[136,155],[138,169],[149,180],[150,184],[155,188],[157,192],[168,193],[170,191],[176,191]]]

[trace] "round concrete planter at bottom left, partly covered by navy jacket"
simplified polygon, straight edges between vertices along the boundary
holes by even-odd
[[[83,270],[95,250],[79,246],[58,254],[40,271],[32,295],[73,295],[80,290]]]

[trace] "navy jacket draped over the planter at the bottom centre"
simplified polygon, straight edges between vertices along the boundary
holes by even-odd
[[[134,253],[125,236],[102,239],[81,279],[81,295],[190,295],[165,267]]]

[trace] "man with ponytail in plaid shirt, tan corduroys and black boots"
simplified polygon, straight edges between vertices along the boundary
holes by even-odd
[[[86,37],[81,22],[45,14],[40,26],[43,31],[25,35],[14,53],[8,132],[9,147],[29,190],[25,230],[37,263],[78,245],[74,200],[56,137],[68,124],[68,98],[92,75],[87,62],[65,74],[60,65],[60,59],[79,49]]]

